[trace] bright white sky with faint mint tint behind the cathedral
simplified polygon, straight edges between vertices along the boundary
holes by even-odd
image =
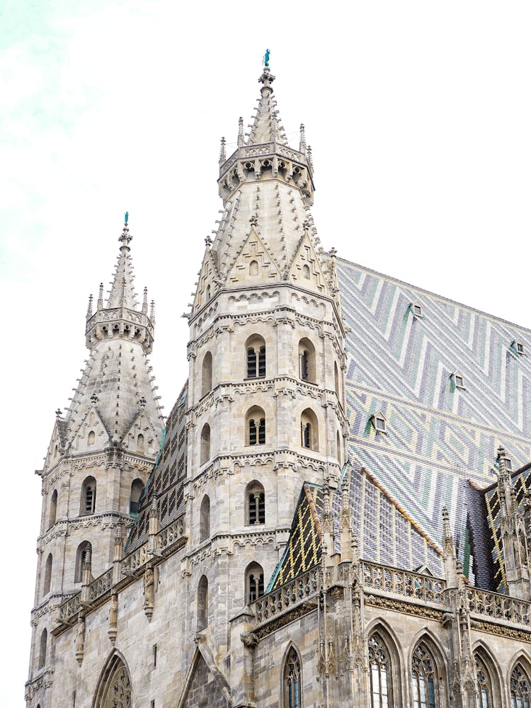
[[[2,706],[23,706],[33,470],[86,358],[89,293],[110,280],[129,210],[169,413],[187,375],[181,314],[221,208],[219,138],[231,152],[239,115],[250,122],[266,47],[287,135],[297,147],[304,122],[314,151],[324,248],[531,326],[529,2],[346,7],[4,0]]]

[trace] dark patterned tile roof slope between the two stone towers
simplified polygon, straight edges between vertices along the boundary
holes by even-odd
[[[183,483],[186,476],[186,399],[188,382],[179,394],[166,421],[161,450],[139,501],[139,513],[125,549],[135,550],[147,540],[149,508],[155,495],[159,500],[160,527],[163,529],[183,513]]]

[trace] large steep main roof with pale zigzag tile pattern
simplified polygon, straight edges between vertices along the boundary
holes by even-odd
[[[348,334],[350,455],[429,537],[450,509],[464,552],[467,480],[496,480],[496,450],[531,459],[531,331],[336,258]],[[420,302],[423,316],[411,303]],[[464,389],[452,374],[462,372]],[[387,435],[370,416],[381,410]]]

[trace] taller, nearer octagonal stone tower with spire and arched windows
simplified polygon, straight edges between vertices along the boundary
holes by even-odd
[[[222,139],[224,210],[215,239],[206,239],[185,315],[190,618],[196,599],[210,606],[198,610],[190,630],[202,632],[218,657],[241,646],[227,627],[273,577],[303,482],[326,479],[335,488],[346,461],[335,257],[319,248],[309,212],[314,183],[304,126],[299,148],[289,147],[274,79],[265,67],[251,131],[244,135],[240,118],[228,158]],[[233,659],[244,691],[246,669]]]

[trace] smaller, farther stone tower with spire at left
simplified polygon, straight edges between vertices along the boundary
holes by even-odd
[[[100,285],[96,311],[86,314],[89,358],[71,403],[57,420],[42,478],[31,681],[50,680],[54,666],[54,610],[113,561],[120,528],[135,517],[161,441],[161,409],[147,355],[154,336],[154,304],[147,290],[139,309],[127,225],[107,302]]]

